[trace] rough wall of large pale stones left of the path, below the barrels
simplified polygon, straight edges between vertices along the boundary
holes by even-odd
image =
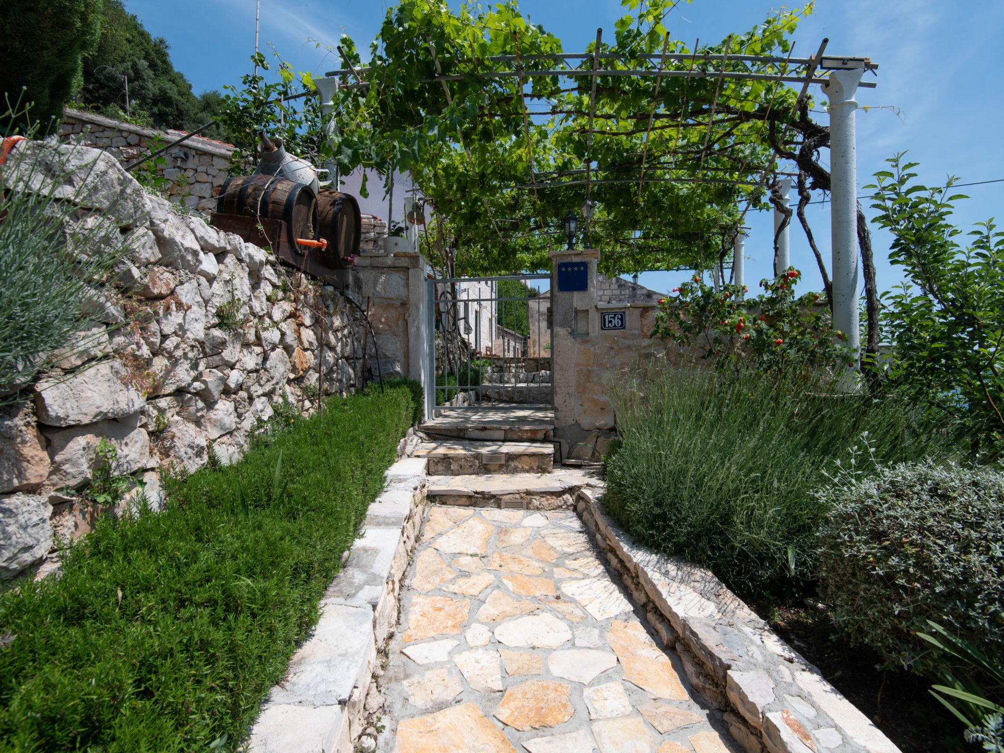
[[[10,190],[49,192],[79,208],[67,233],[106,226],[124,254],[100,310],[22,391],[31,400],[2,409],[0,577],[37,565],[54,537],[82,535],[103,512],[83,494],[101,439],[117,452],[113,472],[145,481],[156,507],[164,469],[191,473],[211,453],[231,463],[277,403],[310,410],[318,394],[357,387],[364,328],[345,295],[359,302],[363,286],[374,299],[403,292],[365,271],[348,273],[345,292],[310,281],[146,193],[106,152],[22,143],[5,170]],[[407,349],[381,355],[399,359],[385,375],[401,372]]]

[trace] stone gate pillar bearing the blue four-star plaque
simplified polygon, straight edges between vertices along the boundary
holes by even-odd
[[[599,251],[583,249],[555,251],[551,257],[551,391],[554,400],[554,432],[569,445],[579,442],[584,432],[578,422],[575,387],[576,338],[595,334],[599,329],[596,313],[596,261]],[[558,264],[581,262],[587,268],[586,289],[558,289]],[[567,448],[568,445],[566,445]],[[564,448],[564,449],[566,449]]]

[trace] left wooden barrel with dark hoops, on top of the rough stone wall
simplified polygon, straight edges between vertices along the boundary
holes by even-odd
[[[298,238],[313,239],[317,227],[317,199],[301,183],[269,175],[230,178],[216,200],[216,211],[230,215],[266,217],[286,223],[290,248],[304,253]]]

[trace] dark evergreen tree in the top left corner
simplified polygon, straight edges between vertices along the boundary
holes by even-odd
[[[0,131],[24,130],[39,120],[48,131],[62,119],[63,104],[80,85],[81,58],[97,43],[102,0],[4,0],[0,3],[0,108],[18,107]],[[22,87],[24,87],[22,95]],[[6,128],[4,128],[6,127]]]

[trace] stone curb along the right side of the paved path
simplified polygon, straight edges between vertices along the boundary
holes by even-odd
[[[575,509],[694,688],[748,753],[900,753],[709,570],[638,546],[582,489]]]

